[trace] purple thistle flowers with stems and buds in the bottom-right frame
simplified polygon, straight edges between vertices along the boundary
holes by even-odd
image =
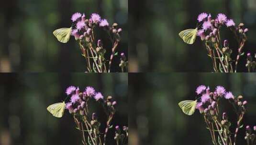
[[[236,145],[237,134],[240,128],[243,127],[243,118],[246,112],[247,101],[242,95],[234,96],[232,92],[226,92],[223,86],[217,86],[214,92],[210,91],[209,87],[200,85],[196,90],[197,95],[200,95],[200,101],[196,104],[196,108],[207,125],[210,131],[213,145]],[[221,112],[221,103],[228,100],[234,107],[237,115],[237,120],[233,121],[228,118],[226,112]],[[234,131],[230,126],[236,124]],[[254,127],[256,129],[256,126]],[[248,145],[256,145],[255,134],[251,134],[248,126],[246,126],[245,140]]]

